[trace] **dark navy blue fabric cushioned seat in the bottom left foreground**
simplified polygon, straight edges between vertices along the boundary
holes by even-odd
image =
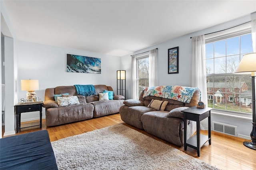
[[[47,130],[0,139],[1,170],[58,170]]]

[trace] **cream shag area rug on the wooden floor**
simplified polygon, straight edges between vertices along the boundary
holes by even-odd
[[[52,142],[59,170],[218,170],[118,124]]]

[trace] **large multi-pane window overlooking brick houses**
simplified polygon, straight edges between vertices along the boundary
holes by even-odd
[[[247,102],[252,99],[250,75],[233,74],[247,53],[253,53],[250,29],[206,37],[208,107],[230,113],[252,113],[251,103]]]

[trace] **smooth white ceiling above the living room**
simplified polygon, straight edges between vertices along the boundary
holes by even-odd
[[[4,0],[18,40],[123,56],[256,11],[256,0]]]

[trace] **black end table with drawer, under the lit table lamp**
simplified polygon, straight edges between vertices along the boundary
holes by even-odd
[[[35,126],[40,126],[42,128],[42,107],[43,107],[43,102],[26,102],[26,103],[18,103],[14,105],[14,113],[16,115],[16,132],[19,132],[20,127],[20,117],[21,113],[26,113],[26,112],[34,112],[34,111],[39,111],[40,112],[40,125],[33,125],[30,127],[35,127]],[[22,127],[22,128],[27,128],[27,127]]]

